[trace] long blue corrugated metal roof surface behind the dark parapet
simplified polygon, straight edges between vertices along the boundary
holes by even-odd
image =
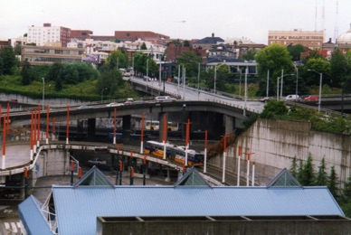
[[[95,234],[98,216],[342,215],[327,187],[53,186],[60,234]]]

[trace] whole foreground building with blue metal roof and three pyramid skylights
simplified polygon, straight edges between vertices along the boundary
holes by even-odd
[[[267,186],[211,186],[190,169],[173,186],[113,185],[93,166],[45,203],[18,206],[28,234],[346,234],[351,221],[325,186],[284,169]]]

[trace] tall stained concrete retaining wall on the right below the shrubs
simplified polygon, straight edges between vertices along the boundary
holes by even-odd
[[[226,169],[235,174],[238,146],[242,146],[242,153],[253,153],[251,162],[256,162],[255,179],[260,184],[269,183],[281,169],[289,169],[294,156],[306,161],[308,154],[312,155],[316,172],[322,158],[326,161],[328,174],[334,165],[341,185],[350,174],[351,136],[314,131],[308,122],[258,119],[227,148]],[[210,163],[222,166],[222,157],[215,157]],[[242,154],[241,159],[241,175],[244,175],[247,155]]]

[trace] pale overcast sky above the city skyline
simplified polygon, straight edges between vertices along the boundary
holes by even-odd
[[[94,35],[152,31],[191,40],[214,33],[265,44],[269,30],[324,28],[325,41],[334,42],[336,25],[338,35],[350,29],[351,0],[1,0],[0,39],[43,23]]]

